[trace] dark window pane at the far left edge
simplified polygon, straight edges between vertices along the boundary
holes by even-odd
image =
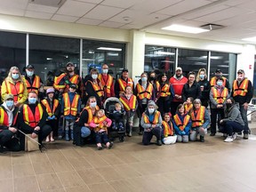
[[[1,84],[12,66],[26,66],[26,35],[0,31]]]

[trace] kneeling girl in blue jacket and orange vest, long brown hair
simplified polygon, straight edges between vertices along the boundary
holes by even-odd
[[[172,124],[177,134],[177,142],[187,143],[192,122],[190,116],[185,113],[183,104],[177,107],[176,114],[172,118]]]

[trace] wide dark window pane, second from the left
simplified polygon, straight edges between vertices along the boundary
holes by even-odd
[[[44,84],[52,85],[52,76],[66,68],[68,61],[75,64],[79,74],[79,52],[80,39],[29,35],[29,64],[35,66]]]

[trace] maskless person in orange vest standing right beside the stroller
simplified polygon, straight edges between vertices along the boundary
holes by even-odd
[[[138,107],[138,101],[135,95],[132,94],[132,87],[126,86],[124,93],[119,100],[122,102],[125,110],[124,115],[124,129],[129,137],[132,137],[133,116],[135,115],[136,108]]]

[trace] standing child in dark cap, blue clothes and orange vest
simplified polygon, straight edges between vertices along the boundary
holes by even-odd
[[[76,116],[79,116],[81,109],[81,99],[79,94],[76,93],[76,84],[70,84],[68,92],[63,93],[61,100],[61,112],[65,119],[65,140],[74,140],[73,128],[76,122]]]

